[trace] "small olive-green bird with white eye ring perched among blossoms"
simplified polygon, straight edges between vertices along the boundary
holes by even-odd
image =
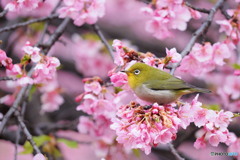
[[[211,91],[188,84],[187,82],[145,63],[137,62],[124,70],[128,84],[142,100],[160,105],[177,101],[181,96],[194,92]]]

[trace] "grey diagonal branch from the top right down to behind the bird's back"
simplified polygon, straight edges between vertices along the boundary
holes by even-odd
[[[215,15],[215,13],[217,12],[217,10],[223,5],[223,3],[226,0],[219,0],[215,6],[211,9],[207,20],[200,26],[200,28],[198,30],[196,30],[196,32],[193,34],[191,40],[188,42],[187,46],[184,48],[184,50],[181,52],[182,57],[185,57],[191,50],[193,45],[196,43],[197,39],[200,37],[200,35],[202,35],[203,33],[205,33],[209,26],[211,25],[211,22],[213,20],[213,17]],[[179,66],[179,64],[181,63],[181,61],[179,61],[178,63],[173,65],[173,68],[171,70],[171,74],[174,74],[176,68]]]

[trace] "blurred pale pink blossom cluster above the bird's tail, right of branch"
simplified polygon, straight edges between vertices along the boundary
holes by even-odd
[[[195,43],[189,55],[183,58],[178,70],[196,77],[204,75],[226,64],[225,61],[233,56],[233,49],[234,47],[227,42],[217,42],[213,45],[209,42]]]

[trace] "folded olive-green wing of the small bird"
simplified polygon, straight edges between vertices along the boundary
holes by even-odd
[[[152,90],[180,90],[192,88],[191,85],[175,77],[166,80],[148,80],[144,84]]]

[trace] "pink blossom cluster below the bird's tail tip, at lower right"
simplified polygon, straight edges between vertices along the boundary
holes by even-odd
[[[214,111],[201,107],[201,103],[195,98],[191,105],[184,105],[179,109],[179,115],[183,119],[183,128],[185,128],[187,122],[193,122],[197,127],[203,127],[196,133],[197,140],[194,143],[194,147],[205,148],[206,143],[209,142],[212,146],[218,146],[220,142],[227,145],[236,141],[234,133],[228,131],[227,127],[232,121],[233,113],[230,111],[224,112]]]

